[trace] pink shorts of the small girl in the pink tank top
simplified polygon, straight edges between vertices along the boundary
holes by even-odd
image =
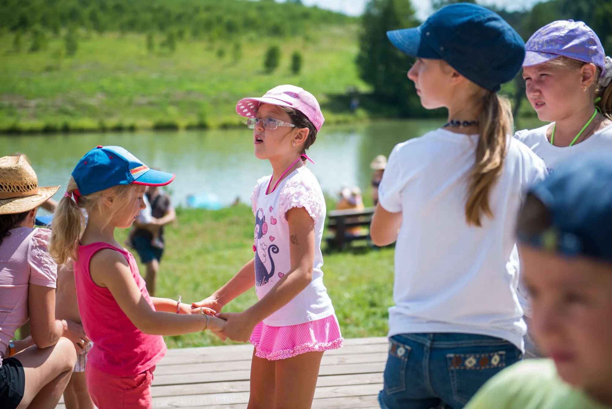
[[[150,409],[151,382],[155,367],[130,377],[118,377],[87,363],[85,382],[94,405],[99,409]]]

